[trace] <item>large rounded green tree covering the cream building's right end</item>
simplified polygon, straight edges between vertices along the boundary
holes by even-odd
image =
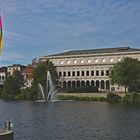
[[[138,91],[140,88],[140,61],[126,57],[111,68],[112,84],[125,86],[125,89]]]

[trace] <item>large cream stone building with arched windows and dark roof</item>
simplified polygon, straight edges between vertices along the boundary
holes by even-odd
[[[110,68],[124,57],[140,60],[140,49],[120,47],[76,50],[42,56],[40,60],[50,59],[54,63],[65,89],[95,85],[102,91],[124,91],[124,87],[111,85],[109,79]]]

